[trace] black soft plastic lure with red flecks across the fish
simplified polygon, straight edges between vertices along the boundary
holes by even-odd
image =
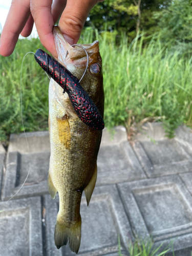
[[[36,51],[35,60],[59,84],[63,92],[67,92],[80,120],[96,130],[103,130],[102,116],[90,96],[81,87],[78,78],[41,49]]]

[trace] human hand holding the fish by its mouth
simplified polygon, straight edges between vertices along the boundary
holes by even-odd
[[[0,54],[12,54],[19,34],[31,34],[33,23],[42,45],[57,57],[53,26],[59,18],[59,28],[66,40],[76,44],[90,10],[103,0],[12,0],[1,34]],[[53,2],[53,3],[52,3]]]

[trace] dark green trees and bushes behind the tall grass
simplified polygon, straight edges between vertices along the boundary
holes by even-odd
[[[94,26],[98,31],[105,29],[110,32],[116,31],[118,43],[121,33],[124,32],[131,42],[136,37],[136,26],[140,19],[140,31],[144,31],[146,35],[161,32],[163,44],[174,46],[178,42],[192,41],[191,0],[142,0],[140,18],[136,2],[134,0],[100,2],[90,12],[86,26]],[[105,28],[106,22],[108,25]]]

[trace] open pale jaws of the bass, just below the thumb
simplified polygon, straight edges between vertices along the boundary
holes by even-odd
[[[73,62],[73,65],[86,66],[87,55],[86,52],[78,47],[72,47],[69,42],[66,41],[65,37],[61,33],[58,26],[54,26],[53,35],[55,40],[55,47],[58,54],[58,61],[67,68],[69,62]],[[96,40],[92,44],[79,44],[88,53],[89,56],[99,53],[99,41]],[[68,54],[67,54],[68,52]],[[66,56],[67,55],[67,56]],[[75,62],[75,63],[74,63]],[[80,62],[80,63],[79,63]]]

